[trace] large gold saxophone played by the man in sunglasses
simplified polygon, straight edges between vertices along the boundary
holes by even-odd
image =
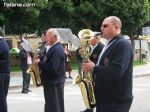
[[[94,36],[94,33],[89,29],[83,29],[78,33],[78,37],[81,41],[81,50],[83,62],[87,62],[89,59],[89,39]],[[84,104],[86,108],[94,108],[96,104],[95,94],[94,94],[94,82],[92,79],[92,72],[83,73],[78,75],[74,81],[77,84],[82,93]]]

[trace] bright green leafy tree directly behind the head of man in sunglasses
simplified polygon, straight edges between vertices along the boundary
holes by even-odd
[[[143,0],[100,0],[102,12],[105,16],[115,15],[122,20],[122,32],[130,36],[131,40],[138,29],[145,23],[145,8]]]

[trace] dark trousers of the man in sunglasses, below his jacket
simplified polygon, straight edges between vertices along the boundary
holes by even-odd
[[[96,112],[129,112],[131,104],[132,104],[132,100],[128,100],[120,103],[99,102],[96,105]]]

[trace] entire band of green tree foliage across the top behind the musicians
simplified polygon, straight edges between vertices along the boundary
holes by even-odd
[[[0,25],[6,25],[6,33],[41,32],[49,27],[71,28],[76,34],[84,28],[99,31],[102,20],[115,15],[122,20],[123,33],[133,40],[133,35],[149,20],[145,6],[149,6],[149,0],[20,0],[20,3],[35,6],[1,8]]]

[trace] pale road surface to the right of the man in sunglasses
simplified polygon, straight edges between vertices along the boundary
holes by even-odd
[[[134,100],[130,112],[150,112],[150,76],[133,80]]]

